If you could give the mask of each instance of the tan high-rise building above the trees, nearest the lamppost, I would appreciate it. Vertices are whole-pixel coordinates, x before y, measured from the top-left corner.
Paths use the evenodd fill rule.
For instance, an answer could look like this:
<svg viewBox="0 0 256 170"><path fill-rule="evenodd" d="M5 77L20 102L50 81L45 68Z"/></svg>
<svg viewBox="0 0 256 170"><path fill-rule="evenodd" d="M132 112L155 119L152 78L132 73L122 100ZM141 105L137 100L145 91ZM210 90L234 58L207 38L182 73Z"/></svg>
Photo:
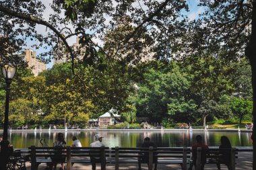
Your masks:
<svg viewBox="0 0 256 170"><path fill-rule="evenodd" d="M38 73L46 70L46 64L36 58L36 51L34 50L26 50L24 60L28 62L28 67L32 70L34 76L38 76Z"/></svg>

